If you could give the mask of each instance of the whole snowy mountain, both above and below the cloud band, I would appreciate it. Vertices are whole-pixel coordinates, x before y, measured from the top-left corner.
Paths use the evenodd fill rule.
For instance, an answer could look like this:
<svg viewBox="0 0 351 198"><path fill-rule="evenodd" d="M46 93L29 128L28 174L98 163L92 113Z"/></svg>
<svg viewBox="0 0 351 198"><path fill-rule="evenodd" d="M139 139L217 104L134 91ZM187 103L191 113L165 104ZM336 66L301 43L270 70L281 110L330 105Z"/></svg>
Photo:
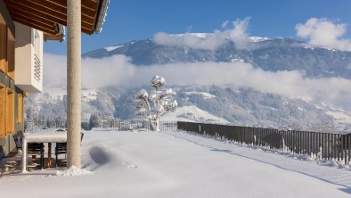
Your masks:
<svg viewBox="0 0 351 198"><path fill-rule="evenodd" d="M207 37L207 34L192 34ZM179 35L181 37L182 35ZM152 39L111 45L83 54L102 58L124 54L136 66L175 62L249 62L269 71L300 70L309 78L343 77L351 79L351 53L310 45L291 38L250 37L249 49L238 49L228 41L216 50L194 49L180 45L158 45ZM100 87L82 92L83 120L92 114L120 120L135 119L135 94L140 88ZM351 111L333 103L317 101L307 95L291 98L242 87L186 86L175 90L178 109L165 120L191 120L230 123L267 128L305 130L342 130L351 128ZM65 89L45 89L44 94L29 95L26 108L45 118L65 120ZM351 108L350 108L351 109Z"/></svg>

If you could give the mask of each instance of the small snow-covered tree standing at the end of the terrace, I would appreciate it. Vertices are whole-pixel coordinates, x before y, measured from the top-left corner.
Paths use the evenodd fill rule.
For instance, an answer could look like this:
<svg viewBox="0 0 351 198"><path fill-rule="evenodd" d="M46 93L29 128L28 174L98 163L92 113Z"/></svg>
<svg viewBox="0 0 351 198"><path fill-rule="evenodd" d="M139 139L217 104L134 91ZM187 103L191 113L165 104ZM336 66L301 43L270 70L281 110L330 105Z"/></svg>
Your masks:
<svg viewBox="0 0 351 198"><path fill-rule="evenodd" d="M171 98L173 94L171 88L160 90L160 87L166 85L165 78L155 76L151 79L150 85L155 88L153 93L149 95L145 89L142 89L136 95L139 101L136 106L137 115L149 120L152 130L159 131L160 118L167 111L175 110L178 104Z"/></svg>

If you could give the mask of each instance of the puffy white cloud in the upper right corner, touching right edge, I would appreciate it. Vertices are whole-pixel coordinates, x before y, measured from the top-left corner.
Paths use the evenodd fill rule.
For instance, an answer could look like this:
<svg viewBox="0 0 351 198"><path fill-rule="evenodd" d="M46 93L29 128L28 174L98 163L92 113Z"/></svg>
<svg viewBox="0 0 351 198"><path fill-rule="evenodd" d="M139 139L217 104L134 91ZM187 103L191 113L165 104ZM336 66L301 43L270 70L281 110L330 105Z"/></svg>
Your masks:
<svg viewBox="0 0 351 198"><path fill-rule="evenodd" d="M311 18L305 24L298 23L295 29L298 37L308 38L310 44L351 51L351 40L342 38L347 31L345 23Z"/></svg>

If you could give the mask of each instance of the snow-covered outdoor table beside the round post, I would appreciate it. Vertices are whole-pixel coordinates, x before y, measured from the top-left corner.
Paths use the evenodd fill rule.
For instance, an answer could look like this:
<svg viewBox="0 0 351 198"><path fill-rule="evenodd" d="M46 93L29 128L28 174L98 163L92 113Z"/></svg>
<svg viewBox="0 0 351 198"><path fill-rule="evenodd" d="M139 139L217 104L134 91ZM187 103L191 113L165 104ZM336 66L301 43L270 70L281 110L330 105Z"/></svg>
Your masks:
<svg viewBox="0 0 351 198"><path fill-rule="evenodd" d="M66 143L66 142L67 142L66 131L25 133L22 139L22 172L27 172L27 148L29 143L51 144L51 143ZM49 147L51 148L50 145Z"/></svg>

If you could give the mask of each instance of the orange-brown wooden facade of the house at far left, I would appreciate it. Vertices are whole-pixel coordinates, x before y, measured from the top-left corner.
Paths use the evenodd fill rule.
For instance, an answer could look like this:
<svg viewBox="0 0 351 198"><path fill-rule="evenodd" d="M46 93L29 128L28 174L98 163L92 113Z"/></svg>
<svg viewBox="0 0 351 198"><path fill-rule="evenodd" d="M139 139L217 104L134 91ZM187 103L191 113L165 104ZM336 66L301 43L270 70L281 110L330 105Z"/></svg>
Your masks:
<svg viewBox="0 0 351 198"><path fill-rule="evenodd" d="M0 158L16 152L13 134L23 131L23 91L15 86L15 28L0 2ZM21 95L21 96L20 96ZM18 100L20 98L20 101ZM19 122L20 120L20 122Z"/></svg>

